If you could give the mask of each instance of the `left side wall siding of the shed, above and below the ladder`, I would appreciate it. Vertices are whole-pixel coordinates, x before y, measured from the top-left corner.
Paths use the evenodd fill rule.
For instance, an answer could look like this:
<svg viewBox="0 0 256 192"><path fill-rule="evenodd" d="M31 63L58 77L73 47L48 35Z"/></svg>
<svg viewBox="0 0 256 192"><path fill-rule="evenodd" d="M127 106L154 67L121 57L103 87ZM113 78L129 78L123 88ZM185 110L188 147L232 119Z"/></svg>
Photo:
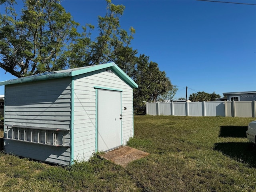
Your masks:
<svg viewBox="0 0 256 192"><path fill-rule="evenodd" d="M70 129L71 78L5 86L5 125ZM6 129L5 129L6 134ZM70 135L66 135L70 142ZM68 165L70 148L5 140L5 152Z"/></svg>

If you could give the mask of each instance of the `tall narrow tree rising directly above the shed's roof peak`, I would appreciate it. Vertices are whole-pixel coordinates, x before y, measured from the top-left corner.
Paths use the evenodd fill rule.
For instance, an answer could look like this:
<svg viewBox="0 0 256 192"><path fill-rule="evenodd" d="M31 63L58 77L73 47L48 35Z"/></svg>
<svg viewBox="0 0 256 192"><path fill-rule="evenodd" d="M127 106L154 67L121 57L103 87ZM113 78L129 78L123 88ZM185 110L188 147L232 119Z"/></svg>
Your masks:
<svg viewBox="0 0 256 192"><path fill-rule="evenodd" d="M120 28L119 17L122 16L125 7L112 4L111 0L106 0L106 2L105 17L98 16L99 36L90 45L88 65L106 63L120 55L125 55L124 52L129 51L128 46L135 33L132 27L130 27L130 35Z"/></svg>

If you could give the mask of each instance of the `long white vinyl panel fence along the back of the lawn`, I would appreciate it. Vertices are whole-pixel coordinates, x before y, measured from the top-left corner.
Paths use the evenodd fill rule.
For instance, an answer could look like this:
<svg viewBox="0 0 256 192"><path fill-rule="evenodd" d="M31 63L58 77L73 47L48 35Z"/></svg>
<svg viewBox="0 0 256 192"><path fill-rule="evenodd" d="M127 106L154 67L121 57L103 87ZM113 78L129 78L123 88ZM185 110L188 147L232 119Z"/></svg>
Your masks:
<svg viewBox="0 0 256 192"><path fill-rule="evenodd" d="M256 101L146 103L148 115L256 117Z"/></svg>

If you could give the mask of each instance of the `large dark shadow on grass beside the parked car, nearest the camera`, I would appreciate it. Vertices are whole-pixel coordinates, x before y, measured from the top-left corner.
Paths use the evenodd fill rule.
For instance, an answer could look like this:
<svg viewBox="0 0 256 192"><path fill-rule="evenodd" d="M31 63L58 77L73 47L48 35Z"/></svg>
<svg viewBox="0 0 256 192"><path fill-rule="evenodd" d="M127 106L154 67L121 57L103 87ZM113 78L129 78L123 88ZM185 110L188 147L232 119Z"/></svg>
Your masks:
<svg viewBox="0 0 256 192"><path fill-rule="evenodd" d="M238 162L247 163L250 167L256 168L256 145L253 143L216 143L214 144L214 150L220 151Z"/></svg>

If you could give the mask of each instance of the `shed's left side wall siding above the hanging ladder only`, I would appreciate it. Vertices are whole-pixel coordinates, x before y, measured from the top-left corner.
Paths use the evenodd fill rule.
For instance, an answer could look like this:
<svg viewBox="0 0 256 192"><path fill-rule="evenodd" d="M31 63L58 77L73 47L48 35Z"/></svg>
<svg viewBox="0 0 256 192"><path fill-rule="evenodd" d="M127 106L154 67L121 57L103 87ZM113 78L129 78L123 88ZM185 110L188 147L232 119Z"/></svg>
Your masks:
<svg viewBox="0 0 256 192"><path fill-rule="evenodd" d="M6 85L5 124L70 128L70 80Z"/></svg>

